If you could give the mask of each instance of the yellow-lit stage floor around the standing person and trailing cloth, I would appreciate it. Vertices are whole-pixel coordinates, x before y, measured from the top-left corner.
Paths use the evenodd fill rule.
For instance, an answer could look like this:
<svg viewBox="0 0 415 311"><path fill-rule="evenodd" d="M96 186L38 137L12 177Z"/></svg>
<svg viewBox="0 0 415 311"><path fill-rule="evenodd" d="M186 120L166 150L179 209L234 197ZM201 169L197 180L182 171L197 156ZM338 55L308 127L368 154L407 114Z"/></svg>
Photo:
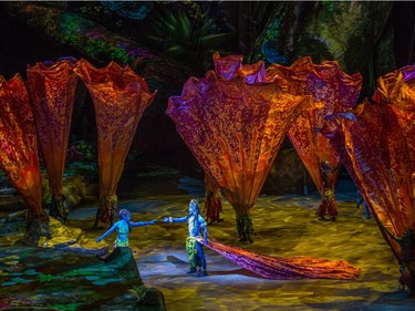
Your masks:
<svg viewBox="0 0 415 311"><path fill-rule="evenodd" d="M141 190L120 194L120 207L132 211L133 221L180 217L193 197L203 197L198 183L184 179L135 185ZM190 182L189 182L190 180ZM343 184L343 188L342 188ZM362 270L356 280L267 280L205 249L208 276L186 274L186 224L133 228L131 247L146 287L163 292L169 311L194 310L415 310L415 300L400 291L400 272L392 251L373 218L355 207L355 189L347 180L338 186L338 221L319 221L320 198L261 195L252 210L253 243L239 243L235 211L224 198L224 221L208 226L209 239L258 253L312 256L346 260ZM203 204L201 204L203 207ZM96 238L106 228L92 230L96 207L82 206L70 215L71 226ZM115 234L106 239L111 245ZM96 307L100 310L100 307Z"/></svg>

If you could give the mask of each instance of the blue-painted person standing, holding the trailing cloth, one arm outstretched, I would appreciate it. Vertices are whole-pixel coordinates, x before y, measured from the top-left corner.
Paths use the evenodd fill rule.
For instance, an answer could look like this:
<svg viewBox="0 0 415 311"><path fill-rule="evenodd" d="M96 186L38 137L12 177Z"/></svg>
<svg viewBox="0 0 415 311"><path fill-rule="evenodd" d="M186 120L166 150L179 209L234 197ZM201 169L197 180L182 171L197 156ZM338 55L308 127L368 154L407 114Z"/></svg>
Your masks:
<svg viewBox="0 0 415 311"><path fill-rule="evenodd" d="M207 245L206 221L200 215L199 203L191 199L189 203L189 214L181 218L164 217L163 222L186 222L188 224L188 237L186 240L186 250L189 257L190 270L187 273L198 273L199 277L206 277L206 259L203 243ZM200 229L204 230L204 237L200 236Z"/></svg>

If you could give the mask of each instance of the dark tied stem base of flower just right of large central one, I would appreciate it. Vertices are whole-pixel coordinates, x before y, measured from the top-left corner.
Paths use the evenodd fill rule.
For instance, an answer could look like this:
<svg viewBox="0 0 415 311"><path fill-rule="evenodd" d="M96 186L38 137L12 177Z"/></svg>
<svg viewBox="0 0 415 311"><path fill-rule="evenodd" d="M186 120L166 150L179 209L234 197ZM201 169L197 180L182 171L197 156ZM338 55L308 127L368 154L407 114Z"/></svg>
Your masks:
<svg viewBox="0 0 415 311"><path fill-rule="evenodd" d="M334 188L336 183L336 172L340 165L335 168L331 168L328 160L320 163L320 173L323 179L322 189L322 200L320 203L319 209L315 212L320 220L328 220L324 216L329 215L331 221L335 221L338 217L338 203L335 201Z"/></svg>

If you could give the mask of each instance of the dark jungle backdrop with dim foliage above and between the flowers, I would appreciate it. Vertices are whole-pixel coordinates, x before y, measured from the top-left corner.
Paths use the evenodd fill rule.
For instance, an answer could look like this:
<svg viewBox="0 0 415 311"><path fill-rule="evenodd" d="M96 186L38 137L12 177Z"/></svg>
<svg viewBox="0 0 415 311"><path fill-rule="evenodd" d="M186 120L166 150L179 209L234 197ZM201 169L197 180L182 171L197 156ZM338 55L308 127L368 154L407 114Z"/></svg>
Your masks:
<svg viewBox="0 0 415 311"><path fill-rule="evenodd" d="M414 13L413 2L398 1L0 2L0 74L25 77L29 64L62 56L98 68L129 64L158 94L139 123L127 172L151 162L201 177L165 111L189 76L212 70L212 53L266 66L305 55L338 61L345 73L363 75L362 101L378 76L414 63ZM72 120L70 143L86 142L83 156L94 157L94 108L81 83ZM278 162L284 151L292 151L289 139Z"/></svg>

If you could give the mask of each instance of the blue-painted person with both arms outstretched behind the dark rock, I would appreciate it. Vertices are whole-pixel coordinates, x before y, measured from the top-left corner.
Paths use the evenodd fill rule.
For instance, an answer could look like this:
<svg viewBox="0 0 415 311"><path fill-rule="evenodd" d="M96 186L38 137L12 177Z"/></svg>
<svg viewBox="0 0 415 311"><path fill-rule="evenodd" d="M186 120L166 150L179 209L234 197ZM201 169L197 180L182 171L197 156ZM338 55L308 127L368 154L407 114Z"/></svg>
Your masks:
<svg viewBox="0 0 415 311"><path fill-rule="evenodd" d="M111 235L114 230L116 230L117 237L114 247L128 247L128 236L132 227L154 225L157 221L157 219L153 219L151 221L133 222L131 221L131 214L127 209L120 210L118 216L120 220L116 221L104 235L95 240L97 243L101 242L105 237Z"/></svg>

